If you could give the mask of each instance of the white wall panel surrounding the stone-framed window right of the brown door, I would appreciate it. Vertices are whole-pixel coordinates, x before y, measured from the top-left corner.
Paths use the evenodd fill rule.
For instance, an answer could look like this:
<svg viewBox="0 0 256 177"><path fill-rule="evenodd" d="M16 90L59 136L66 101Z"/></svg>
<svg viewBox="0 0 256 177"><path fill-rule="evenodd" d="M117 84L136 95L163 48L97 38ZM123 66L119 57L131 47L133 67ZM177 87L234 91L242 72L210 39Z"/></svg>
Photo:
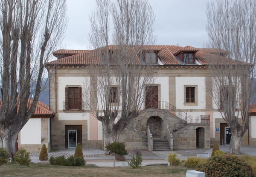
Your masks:
<svg viewBox="0 0 256 177"><path fill-rule="evenodd" d="M179 109L205 109L205 77L176 77L176 107ZM197 86L197 105L184 105L184 86Z"/></svg>

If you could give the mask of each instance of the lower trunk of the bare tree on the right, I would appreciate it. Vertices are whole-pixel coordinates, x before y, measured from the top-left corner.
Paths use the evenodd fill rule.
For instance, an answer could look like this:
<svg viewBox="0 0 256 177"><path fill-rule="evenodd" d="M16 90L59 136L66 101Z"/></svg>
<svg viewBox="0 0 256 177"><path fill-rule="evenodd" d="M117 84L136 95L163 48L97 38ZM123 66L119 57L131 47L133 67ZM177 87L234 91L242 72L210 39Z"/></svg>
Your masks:
<svg viewBox="0 0 256 177"><path fill-rule="evenodd" d="M243 136L240 132L232 131L232 136L230 140L230 154L240 154L242 137Z"/></svg>

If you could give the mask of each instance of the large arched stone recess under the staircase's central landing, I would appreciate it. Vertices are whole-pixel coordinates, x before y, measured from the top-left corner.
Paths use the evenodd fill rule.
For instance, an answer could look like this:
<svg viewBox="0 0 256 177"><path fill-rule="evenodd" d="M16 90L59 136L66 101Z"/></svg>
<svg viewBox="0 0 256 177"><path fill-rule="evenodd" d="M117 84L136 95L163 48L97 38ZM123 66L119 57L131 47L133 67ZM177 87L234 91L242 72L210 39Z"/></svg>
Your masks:
<svg viewBox="0 0 256 177"><path fill-rule="evenodd" d="M151 131L153 137L161 137L163 120L158 116L151 116L147 120L147 127Z"/></svg>

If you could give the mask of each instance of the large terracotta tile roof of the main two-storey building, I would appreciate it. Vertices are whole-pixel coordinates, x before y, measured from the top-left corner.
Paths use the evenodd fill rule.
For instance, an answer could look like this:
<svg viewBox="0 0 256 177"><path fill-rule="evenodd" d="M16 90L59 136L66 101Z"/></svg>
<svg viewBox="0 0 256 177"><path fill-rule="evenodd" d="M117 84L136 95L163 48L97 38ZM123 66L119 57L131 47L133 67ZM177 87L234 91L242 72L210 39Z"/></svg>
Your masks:
<svg viewBox="0 0 256 177"><path fill-rule="evenodd" d="M128 52L134 53L134 47L128 46ZM116 45L108 46L109 51L118 49ZM102 50L106 50L106 47L93 50L58 50L53 52L54 54L73 54L71 56L63 57L58 60L54 60L47 63L47 66L86 66L90 64L100 64L102 58ZM194 51L196 60L202 65L211 63L225 64L227 58L218 54L225 53L226 51L220 49L197 49L192 46L171 46L171 45L145 45L143 50L157 51L163 65L181 65L177 60L176 55L180 52ZM140 49L137 49L137 54ZM226 52L227 53L227 52ZM225 54L226 54L225 53ZM137 63L140 63L140 58L137 56ZM235 61L235 60L234 60Z"/></svg>

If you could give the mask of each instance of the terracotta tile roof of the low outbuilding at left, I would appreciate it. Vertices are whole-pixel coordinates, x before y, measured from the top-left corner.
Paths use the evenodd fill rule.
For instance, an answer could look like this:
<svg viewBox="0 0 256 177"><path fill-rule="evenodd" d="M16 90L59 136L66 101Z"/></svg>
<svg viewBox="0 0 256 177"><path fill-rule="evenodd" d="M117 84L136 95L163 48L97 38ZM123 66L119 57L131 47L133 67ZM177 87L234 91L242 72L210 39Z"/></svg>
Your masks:
<svg viewBox="0 0 256 177"><path fill-rule="evenodd" d="M28 101L28 106L30 106L32 104L31 99L29 99ZM0 107L2 106L2 101L0 100ZM18 106L19 109L19 106ZM47 117L47 118L51 118L54 117L54 113L52 111L49 110L49 106L45 105L44 103L38 101L36 108L35 108L35 113L31 116L31 117Z"/></svg>

